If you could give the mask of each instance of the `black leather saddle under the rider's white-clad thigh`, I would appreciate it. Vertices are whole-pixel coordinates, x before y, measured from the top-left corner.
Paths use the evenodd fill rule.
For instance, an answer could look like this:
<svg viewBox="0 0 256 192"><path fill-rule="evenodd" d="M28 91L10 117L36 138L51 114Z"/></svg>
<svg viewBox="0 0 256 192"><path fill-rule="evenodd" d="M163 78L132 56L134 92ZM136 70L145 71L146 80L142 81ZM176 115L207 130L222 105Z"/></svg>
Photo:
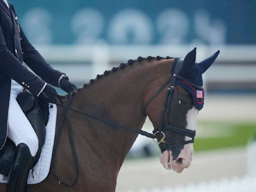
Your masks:
<svg viewBox="0 0 256 192"><path fill-rule="evenodd" d="M41 149L45 141L45 125L49 118L48 103L33 96L29 91L24 90L17 96L17 102L26 115L38 137L38 151L34 157L34 166L41 154ZM3 148L0 150L0 174L8 176L9 170L15 155L16 146L7 138Z"/></svg>

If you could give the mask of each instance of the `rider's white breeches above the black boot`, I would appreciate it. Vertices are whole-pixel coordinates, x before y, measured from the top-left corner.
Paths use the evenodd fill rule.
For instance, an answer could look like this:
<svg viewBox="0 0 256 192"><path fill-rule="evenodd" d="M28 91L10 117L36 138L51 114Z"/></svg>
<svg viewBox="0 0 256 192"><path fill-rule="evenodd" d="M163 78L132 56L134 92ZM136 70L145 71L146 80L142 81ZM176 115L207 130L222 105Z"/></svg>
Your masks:
<svg viewBox="0 0 256 192"><path fill-rule="evenodd" d="M25 143L32 156L35 156L38 150L38 139L33 127L27 120L21 110L16 98L23 91L23 87L15 80L11 80L10 100L8 109L8 133L7 137L17 146L19 143Z"/></svg>

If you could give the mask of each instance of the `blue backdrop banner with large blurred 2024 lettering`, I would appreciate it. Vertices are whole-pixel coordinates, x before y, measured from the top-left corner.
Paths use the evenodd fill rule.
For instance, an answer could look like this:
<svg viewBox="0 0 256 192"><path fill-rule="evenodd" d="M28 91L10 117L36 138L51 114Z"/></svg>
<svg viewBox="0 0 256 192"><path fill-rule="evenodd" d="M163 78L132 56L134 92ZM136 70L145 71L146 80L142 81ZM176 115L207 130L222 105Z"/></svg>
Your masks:
<svg viewBox="0 0 256 192"><path fill-rule="evenodd" d="M9 0L37 44L255 44L255 0Z"/></svg>

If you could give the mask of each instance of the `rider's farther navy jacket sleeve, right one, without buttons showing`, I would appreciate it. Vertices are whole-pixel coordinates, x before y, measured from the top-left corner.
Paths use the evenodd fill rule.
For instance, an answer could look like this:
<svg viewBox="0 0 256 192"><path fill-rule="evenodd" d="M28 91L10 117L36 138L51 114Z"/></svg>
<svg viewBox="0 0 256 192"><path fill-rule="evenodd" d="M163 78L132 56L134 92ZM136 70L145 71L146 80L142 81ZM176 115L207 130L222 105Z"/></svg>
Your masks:
<svg viewBox="0 0 256 192"><path fill-rule="evenodd" d="M23 51L24 62L43 80L59 87L59 80L65 74L54 70L41 54L31 45L20 27L21 49Z"/></svg>

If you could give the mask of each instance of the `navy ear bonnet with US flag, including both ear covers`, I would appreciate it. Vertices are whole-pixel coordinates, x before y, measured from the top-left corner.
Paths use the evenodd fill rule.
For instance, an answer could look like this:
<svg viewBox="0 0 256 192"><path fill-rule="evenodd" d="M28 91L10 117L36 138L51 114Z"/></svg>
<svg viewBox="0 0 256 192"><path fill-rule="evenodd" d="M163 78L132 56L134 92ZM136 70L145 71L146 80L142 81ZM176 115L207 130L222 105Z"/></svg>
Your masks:
<svg viewBox="0 0 256 192"><path fill-rule="evenodd" d="M196 48L187 53L184 59L175 58L171 67L171 74L175 73L175 85L179 85L188 91L193 99L193 105L200 110L203 106L202 73L207 70L217 58L219 50L197 63L195 62Z"/></svg>

